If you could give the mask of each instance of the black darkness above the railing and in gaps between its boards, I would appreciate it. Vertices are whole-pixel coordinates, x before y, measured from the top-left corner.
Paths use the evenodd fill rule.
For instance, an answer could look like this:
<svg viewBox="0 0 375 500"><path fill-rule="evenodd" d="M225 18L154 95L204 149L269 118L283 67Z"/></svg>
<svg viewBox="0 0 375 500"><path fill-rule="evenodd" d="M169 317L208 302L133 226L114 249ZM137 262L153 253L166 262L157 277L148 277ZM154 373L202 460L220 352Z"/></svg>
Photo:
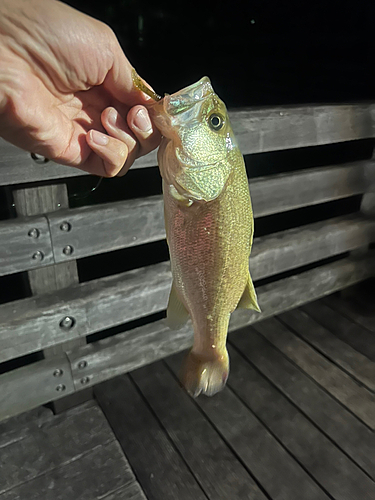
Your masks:
<svg viewBox="0 0 375 500"><path fill-rule="evenodd" d="M132 65L160 94L207 75L229 108L375 102L374 0L66 3L109 24ZM369 158L374 143L366 139L247 155L250 186L252 178L262 175ZM58 182L67 183L72 208L161 193L157 167L103 179L93 192L95 177ZM0 219L16 216L10 208L12 189L0 188ZM360 201L354 196L257 218L255 236L355 212ZM165 241L95 255L77 262L79 279L167 259ZM26 273L0 278L0 303L30 294Z"/></svg>

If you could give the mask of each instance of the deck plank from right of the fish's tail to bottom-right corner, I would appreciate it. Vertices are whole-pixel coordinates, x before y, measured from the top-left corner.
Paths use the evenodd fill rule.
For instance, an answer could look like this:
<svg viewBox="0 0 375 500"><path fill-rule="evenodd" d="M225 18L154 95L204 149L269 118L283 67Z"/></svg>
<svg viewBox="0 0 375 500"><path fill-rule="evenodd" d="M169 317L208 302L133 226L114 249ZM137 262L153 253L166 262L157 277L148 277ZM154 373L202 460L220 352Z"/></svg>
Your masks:
<svg viewBox="0 0 375 500"><path fill-rule="evenodd" d="M263 370L265 356L253 338L248 329L236 335L234 342L245 356L254 349L252 359ZM375 483L365 472L259 372L244 363L242 356L232 349L230 356L229 386L329 495L337 500L374 498ZM282 377L279 367L278 376Z"/></svg>

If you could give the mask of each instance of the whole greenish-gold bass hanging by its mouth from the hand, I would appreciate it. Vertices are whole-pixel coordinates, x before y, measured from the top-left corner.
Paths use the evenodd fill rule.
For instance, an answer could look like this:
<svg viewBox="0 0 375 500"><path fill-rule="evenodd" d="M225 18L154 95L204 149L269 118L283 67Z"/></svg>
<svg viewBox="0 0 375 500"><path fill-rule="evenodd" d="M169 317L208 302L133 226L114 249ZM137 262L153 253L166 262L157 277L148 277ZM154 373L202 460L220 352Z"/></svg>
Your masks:
<svg viewBox="0 0 375 500"><path fill-rule="evenodd" d="M226 106L208 77L154 99L148 111L162 134L157 156L173 277L167 322L178 329L191 318L194 340L181 381L193 397L212 396L229 375L231 313L260 312L249 272L249 183Z"/></svg>

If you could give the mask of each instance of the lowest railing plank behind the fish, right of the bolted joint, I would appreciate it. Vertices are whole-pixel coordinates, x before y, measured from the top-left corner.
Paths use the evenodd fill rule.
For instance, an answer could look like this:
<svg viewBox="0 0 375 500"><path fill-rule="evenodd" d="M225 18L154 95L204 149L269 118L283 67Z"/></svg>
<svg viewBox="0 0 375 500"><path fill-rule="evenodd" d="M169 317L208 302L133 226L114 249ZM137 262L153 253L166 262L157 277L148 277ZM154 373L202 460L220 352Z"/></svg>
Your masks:
<svg viewBox="0 0 375 500"><path fill-rule="evenodd" d="M263 312L235 311L230 331L361 281L373 272L372 265L370 260L353 261L348 258L263 285L257 290ZM157 321L83 346L68 355L78 388L83 377L88 377L87 385L93 385L173 354L191 343L190 322L180 330L172 331L164 321ZM85 367L79 368L82 364Z"/></svg>

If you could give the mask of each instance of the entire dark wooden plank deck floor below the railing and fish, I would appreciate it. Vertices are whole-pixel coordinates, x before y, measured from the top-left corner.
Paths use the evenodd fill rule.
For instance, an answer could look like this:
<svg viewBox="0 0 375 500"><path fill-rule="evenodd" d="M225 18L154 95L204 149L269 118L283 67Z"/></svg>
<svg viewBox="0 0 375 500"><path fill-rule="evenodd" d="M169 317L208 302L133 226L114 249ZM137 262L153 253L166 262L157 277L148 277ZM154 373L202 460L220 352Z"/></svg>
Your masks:
<svg viewBox="0 0 375 500"><path fill-rule="evenodd" d="M180 353L96 386L97 403L0 424L0 500L374 500L375 307L362 299L230 334L213 398L180 388Z"/></svg>

